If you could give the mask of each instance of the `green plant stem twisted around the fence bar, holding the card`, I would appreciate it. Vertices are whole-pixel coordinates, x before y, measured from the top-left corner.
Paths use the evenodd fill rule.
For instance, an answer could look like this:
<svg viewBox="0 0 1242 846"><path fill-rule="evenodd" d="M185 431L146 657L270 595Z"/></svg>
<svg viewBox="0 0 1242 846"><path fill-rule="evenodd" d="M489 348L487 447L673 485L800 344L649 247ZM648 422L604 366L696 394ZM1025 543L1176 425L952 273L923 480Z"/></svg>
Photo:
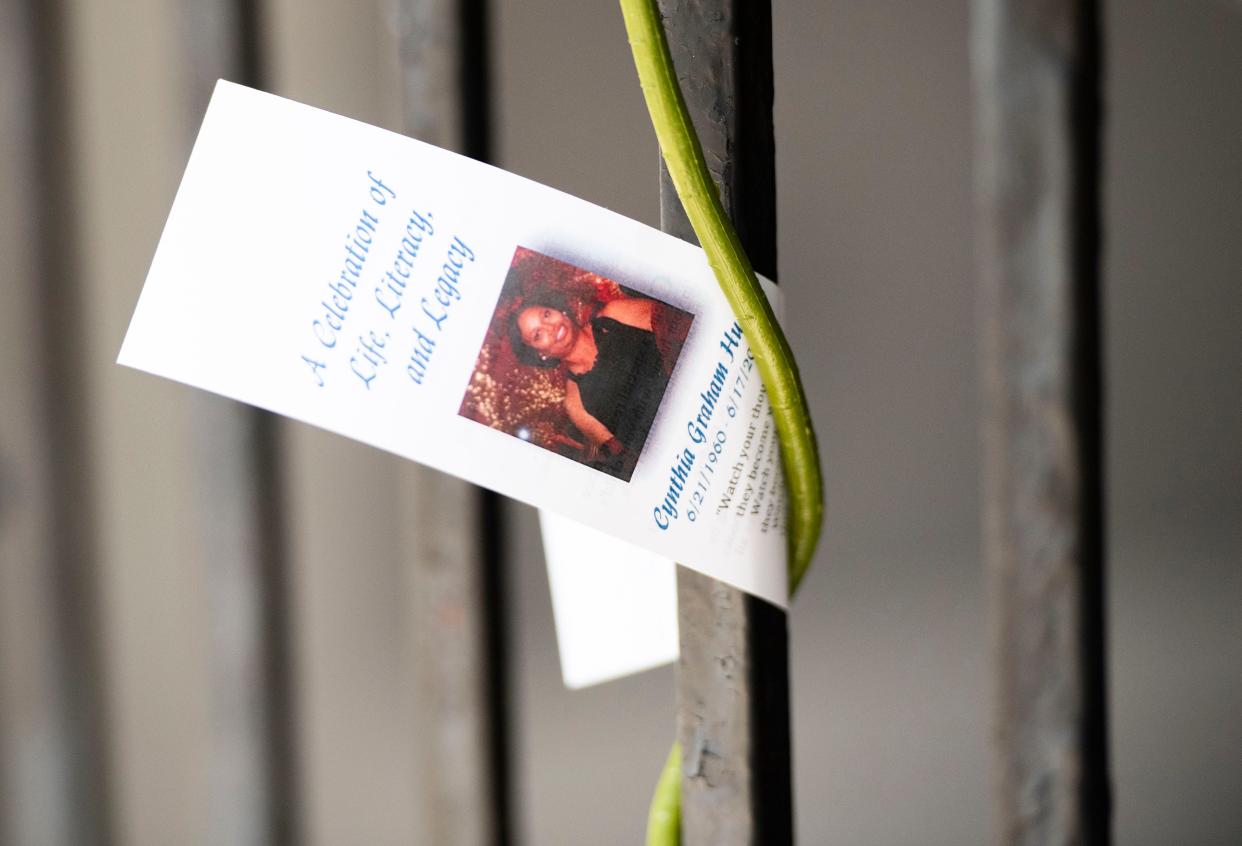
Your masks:
<svg viewBox="0 0 1242 846"><path fill-rule="evenodd" d="M820 453L806 395L785 333L759 287L738 234L691 123L668 52L656 0L621 0L630 47L660 149L708 262L754 350L780 436L789 486L789 590L792 595L810 566L823 522ZM647 819L647 846L681 842L681 750L673 744Z"/></svg>

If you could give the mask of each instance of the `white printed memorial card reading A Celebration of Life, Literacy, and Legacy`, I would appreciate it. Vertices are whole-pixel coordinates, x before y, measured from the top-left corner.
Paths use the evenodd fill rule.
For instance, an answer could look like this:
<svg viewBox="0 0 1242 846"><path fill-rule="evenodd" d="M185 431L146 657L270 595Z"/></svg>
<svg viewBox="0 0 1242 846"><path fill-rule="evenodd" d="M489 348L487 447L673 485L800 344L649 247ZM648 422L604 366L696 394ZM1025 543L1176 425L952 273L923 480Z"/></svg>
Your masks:
<svg viewBox="0 0 1242 846"><path fill-rule="evenodd" d="M786 604L771 415L703 252L513 174L221 82L119 360Z"/></svg>

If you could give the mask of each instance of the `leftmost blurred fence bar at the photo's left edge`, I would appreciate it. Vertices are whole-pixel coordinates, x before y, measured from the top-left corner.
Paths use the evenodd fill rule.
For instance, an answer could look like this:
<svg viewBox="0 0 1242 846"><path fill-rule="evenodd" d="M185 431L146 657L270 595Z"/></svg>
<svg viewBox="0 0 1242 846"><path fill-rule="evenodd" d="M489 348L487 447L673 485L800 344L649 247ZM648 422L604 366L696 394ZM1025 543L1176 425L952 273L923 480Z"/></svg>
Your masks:
<svg viewBox="0 0 1242 846"><path fill-rule="evenodd" d="M0 844L111 842L60 2L0 2Z"/></svg>

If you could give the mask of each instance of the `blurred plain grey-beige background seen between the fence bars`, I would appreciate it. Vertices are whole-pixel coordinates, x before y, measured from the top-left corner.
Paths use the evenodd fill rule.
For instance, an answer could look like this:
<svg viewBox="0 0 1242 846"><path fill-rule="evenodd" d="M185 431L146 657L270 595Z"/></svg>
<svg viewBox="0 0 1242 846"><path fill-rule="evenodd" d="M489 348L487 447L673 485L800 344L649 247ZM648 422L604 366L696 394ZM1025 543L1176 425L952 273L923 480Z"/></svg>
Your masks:
<svg viewBox="0 0 1242 846"><path fill-rule="evenodd" d="M63 5L58 143L75 220L63 248L83 317L62 371L82 398L81 478L98 503L83 532L98 550L111 816L123 844L236 842L212 807L215 624L206 562L186 545L204 530L190 517L197 406L189 389L112 364L202 107L183 93L179 39L193 21L170 0ZM493 11L498 164L656 224L657 150L615 5L496 0ZM268 0L262 20L272 91L400 127L385 2ZM828 491L825 542L791 616L800 841L984 844L968 4L786 0L774 25L780 281ZM1242 7L1113 0L1104 32L1117 842L1233 845ZM0 246L17 256L32 224L12 202L2 214ZM37 364L19 338L0 338L10 370ZM304 839L426 842L415 799L420 658L388 496L400 468L302 425L278 434ZM327 530L325 514L349 534ZM563 689L534 514L513 507L509 523L518 837L640 842L672 738L672 671ZM0 595L0 614L22 612L15 596ZM0 681L6 691L14 702ZM6 742L37 747L12 732Z"/></svg>

